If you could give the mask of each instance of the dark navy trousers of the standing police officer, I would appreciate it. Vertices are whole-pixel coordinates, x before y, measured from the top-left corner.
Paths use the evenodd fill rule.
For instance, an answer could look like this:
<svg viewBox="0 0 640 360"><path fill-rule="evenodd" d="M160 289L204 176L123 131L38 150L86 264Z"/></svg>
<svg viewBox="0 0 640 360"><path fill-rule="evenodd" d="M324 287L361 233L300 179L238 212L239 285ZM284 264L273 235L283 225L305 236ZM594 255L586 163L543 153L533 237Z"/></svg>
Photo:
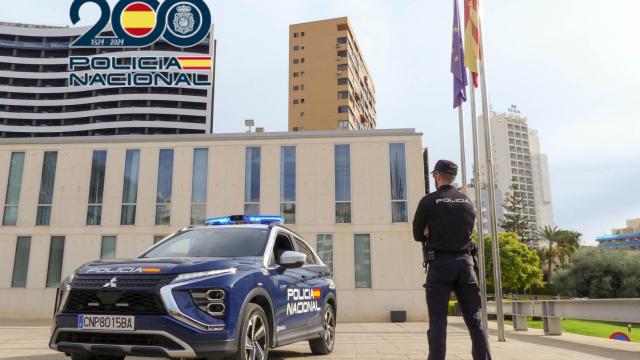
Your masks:
<svg viewBox="0 0 640 360"><path fill-rule="evenodd" d="M447 311L451 290L456 294L469 329L474 360L489 360L489 344L482 328L481 300L473 259L467 254L438 253L427 271L429 360L443 360L447 350Z"/></svg>

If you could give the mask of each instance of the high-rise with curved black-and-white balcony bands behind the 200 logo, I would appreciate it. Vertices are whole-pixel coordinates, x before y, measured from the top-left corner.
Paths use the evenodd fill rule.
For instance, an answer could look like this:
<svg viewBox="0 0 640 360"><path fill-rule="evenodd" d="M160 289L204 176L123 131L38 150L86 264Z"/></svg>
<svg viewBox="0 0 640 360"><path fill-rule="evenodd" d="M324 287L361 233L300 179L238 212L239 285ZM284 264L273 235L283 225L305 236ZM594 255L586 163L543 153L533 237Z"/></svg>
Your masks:
<svg viewBox="0 0 640 360"><path fill-rule="evenodd" d="M126 63L131 56L213 55L213 31L187 49L162 40L141 49L71 48L86 30L0 23L0 138L212 131L213 86L69 86L68 63L70 56ZM213 82L213 73L205 74Z"/></svg>

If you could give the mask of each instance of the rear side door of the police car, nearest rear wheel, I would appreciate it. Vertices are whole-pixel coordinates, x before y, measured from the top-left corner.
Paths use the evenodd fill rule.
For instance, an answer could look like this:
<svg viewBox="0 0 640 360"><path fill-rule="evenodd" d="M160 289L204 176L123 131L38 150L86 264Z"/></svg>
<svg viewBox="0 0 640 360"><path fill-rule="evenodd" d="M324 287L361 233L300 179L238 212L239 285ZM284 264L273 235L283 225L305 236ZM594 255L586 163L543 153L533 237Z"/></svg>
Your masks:
<svg viewBox="0 0 640 360"><path fill-rule="evenodd" d="M313 251L307 244L297 237L294 237L296 250L307 255L307 259L300 268L302 276L305 278L305 285L308 289L306 294L306 312L303 314L303 326L322 325L322 306L324 297L329 289L329 268L322 265L316 258Z"/></svg>

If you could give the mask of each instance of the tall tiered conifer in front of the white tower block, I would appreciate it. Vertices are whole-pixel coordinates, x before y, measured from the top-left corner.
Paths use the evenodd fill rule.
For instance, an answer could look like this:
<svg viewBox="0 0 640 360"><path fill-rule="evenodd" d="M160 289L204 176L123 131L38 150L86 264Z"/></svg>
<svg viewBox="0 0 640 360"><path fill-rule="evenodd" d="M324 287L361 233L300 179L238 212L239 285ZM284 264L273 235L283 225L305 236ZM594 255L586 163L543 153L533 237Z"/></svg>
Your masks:
<svg viewBox="0 0 640 360"><path fill-rule="evenodd" d="M529 213L526 212L529 205L527 195L516 184L512 184L509 190L502 204L504 219L500 226L506 232L515 233L520 241L532 247L534 239Z"/></svg>

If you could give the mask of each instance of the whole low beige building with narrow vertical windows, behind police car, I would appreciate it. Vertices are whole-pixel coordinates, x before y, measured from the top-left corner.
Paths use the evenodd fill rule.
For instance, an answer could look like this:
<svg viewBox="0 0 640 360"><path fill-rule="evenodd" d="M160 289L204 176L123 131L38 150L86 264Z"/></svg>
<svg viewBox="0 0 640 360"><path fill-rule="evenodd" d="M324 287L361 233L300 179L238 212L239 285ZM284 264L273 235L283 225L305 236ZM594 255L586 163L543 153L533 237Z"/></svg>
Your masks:
<svg viewBox="0 0 640 360"><path fill-rule="evenodd" d="M0 142L0 318L51 316L55 287L206 217L278 214L334 271L341 321L424 321L413 129L12 138Z"/></svg>

